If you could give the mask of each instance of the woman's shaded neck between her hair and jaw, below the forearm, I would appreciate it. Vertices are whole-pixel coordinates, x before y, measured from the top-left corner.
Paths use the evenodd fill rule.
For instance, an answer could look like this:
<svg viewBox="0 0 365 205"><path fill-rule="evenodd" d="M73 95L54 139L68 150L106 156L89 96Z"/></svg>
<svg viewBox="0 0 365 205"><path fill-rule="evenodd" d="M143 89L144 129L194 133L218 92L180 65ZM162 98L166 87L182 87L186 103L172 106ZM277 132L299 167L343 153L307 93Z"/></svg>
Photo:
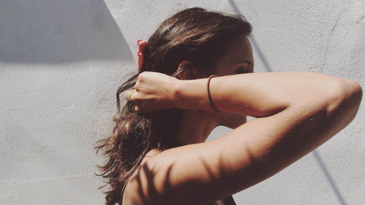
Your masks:
<svg viewBox="0 0 365 205"><path fill-rule="evenodd" d="M209 116L203 110L184 110L176 136L178 142L183 146L205 142L213 129L219 126L218 121Z"/></svg>

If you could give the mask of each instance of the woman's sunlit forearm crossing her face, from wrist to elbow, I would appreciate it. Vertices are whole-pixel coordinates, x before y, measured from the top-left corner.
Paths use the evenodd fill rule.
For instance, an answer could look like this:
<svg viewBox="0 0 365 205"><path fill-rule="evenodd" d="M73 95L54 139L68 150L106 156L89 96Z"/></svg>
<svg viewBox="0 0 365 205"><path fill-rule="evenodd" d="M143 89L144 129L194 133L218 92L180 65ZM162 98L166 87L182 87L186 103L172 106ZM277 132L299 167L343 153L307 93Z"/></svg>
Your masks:
<svg viewBox="0 0 365 205"><path fill-rule="evenodd" d="M180 81L174 104L180 109L212 110L207 97L208 78ZM210 94L215 109L264 117L292 104L326 104L337 97L342 78L309 72L248 73L215 77Z"/></svg>

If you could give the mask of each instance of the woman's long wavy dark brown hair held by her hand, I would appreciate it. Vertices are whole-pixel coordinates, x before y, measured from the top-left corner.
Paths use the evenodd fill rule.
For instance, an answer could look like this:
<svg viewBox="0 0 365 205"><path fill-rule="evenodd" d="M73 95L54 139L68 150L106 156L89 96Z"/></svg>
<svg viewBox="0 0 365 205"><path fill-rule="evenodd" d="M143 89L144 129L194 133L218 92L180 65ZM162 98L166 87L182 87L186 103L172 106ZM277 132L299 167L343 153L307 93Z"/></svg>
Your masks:
<svg viewBox="0 0 365 205"><path fill-rule="evenodd" d="M97 165L101 174L96 174L109 179L104 186L109 184L111 188L103 192L106 194L106 205L120 202L123 185L148 151L177 146L175 136L183 113L177 108L136 113L130 101L126 101L120 109L119 95L133 89L138 75L143 71L178 78L180 71L193 66L201 72L212 74L215 60L226 53L228 45L239 36L250 35L251 30L251 24L242 15L207 11L200 7L177 12L158 26L143 52L142 69L116 92L118 113L113 117L115 127L111 135L96 142L96 154L102 150L107 158L104 165ZM177 70L184 60L192 64L185 64Z"/></svg>

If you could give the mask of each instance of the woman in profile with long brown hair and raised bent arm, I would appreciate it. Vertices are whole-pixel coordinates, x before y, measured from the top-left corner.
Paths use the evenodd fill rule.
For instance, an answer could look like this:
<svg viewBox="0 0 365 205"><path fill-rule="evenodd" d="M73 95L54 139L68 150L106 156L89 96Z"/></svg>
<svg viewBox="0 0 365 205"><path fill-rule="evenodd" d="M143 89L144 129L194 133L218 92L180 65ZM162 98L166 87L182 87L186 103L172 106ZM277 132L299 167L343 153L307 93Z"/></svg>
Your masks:
<svg viewBox="0 0 365 205"><path fill-rule="evenodd" d="M107 205L235 204L232 194L353 120L362 97L357 82L254 73L250 33L243 16L196 7L162 22L148 43L138 41L138 73L118 89L115 127L96 146L108 158L99 166L111 186ZM257 119L247 123L247 116ZM220 125L234 130L205 142Z"/></svg>

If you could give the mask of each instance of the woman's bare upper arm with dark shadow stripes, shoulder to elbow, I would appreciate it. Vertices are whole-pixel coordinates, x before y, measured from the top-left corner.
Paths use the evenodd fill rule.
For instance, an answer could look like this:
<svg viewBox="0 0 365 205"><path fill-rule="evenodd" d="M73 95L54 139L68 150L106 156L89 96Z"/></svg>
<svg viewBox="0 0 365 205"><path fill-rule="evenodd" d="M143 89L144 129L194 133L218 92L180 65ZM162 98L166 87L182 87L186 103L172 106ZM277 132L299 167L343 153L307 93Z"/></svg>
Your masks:
<svg viewBox="0 0 365 205"><path fill-rule="evenodd" d="M337 134L346 115L327 116L327 102L301 106L149 158L131 178L135 204L205 205L278 173Z"/></svg>

